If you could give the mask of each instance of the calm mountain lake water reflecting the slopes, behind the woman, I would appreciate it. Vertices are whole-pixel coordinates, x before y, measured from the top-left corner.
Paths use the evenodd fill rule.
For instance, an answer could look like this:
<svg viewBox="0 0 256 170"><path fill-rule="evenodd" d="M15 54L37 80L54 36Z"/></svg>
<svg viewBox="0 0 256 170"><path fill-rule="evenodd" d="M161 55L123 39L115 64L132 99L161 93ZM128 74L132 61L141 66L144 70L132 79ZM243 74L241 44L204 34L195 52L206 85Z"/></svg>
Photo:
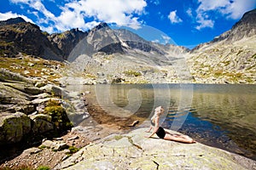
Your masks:
<svg viewBox="0 0 256 170"><path fill-rule="evenodd" d="M148 119L155 106L163 105L161 126L256 160L255 85L117 84L83 89L113 115L125 109L128 113L123 114L130 111Z"/></svg>

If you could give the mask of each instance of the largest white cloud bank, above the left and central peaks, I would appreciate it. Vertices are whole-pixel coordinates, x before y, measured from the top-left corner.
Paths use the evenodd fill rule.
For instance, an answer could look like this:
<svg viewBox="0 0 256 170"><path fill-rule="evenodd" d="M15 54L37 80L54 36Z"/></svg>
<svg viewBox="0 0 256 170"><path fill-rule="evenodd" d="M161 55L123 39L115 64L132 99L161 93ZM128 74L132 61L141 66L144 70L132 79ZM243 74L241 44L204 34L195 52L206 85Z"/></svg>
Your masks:
<svg viewBox="0 0 256 170"><path fill-rule="evenodd" d="M61 14L55 16L45 8L41 0L10 1L12 3L25 3L30 8L36 9L45 17L44 20L38 19L39 24L48 24L49 21L52 21L58 31L71 28L87 30L100 21L138 28L141 23L135 15L143 14L144 8L147 6L145 0L112 0L111 3L102 0L65 1L67 3L61 7ZM96 21L85 23L84 19L86 18L94 18ZM41 27L47 29L44 26Z"/></svg>

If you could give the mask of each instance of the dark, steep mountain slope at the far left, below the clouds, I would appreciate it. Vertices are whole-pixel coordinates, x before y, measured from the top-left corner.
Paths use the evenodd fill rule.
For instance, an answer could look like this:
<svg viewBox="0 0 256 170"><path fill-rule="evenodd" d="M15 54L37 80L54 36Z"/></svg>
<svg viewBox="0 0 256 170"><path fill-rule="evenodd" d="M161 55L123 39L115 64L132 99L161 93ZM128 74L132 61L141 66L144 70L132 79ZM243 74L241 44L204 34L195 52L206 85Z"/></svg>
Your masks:
<svg viewBox="0 0 256 170"><path fill-rule="evenodd" d="M54 48L39 27L21 18L0 23L0 54L12 57L30 54L44 59L63 60L61 51Z"/></svg>

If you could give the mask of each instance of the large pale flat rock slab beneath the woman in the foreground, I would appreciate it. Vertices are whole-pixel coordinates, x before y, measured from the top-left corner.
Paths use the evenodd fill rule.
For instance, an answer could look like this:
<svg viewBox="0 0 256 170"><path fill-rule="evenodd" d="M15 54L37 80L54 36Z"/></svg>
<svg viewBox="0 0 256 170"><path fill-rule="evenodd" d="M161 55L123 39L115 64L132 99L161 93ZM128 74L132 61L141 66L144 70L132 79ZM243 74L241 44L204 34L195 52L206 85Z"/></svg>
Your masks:
<svg viewBox="0 0 256 170"><path fill-rule="evenodd" d="M89 144L55 169L255 169L256 162L205 144L145 139L146 128ZM173 132L172 132L173 133Z"/></svg>

